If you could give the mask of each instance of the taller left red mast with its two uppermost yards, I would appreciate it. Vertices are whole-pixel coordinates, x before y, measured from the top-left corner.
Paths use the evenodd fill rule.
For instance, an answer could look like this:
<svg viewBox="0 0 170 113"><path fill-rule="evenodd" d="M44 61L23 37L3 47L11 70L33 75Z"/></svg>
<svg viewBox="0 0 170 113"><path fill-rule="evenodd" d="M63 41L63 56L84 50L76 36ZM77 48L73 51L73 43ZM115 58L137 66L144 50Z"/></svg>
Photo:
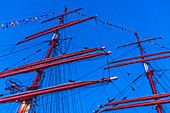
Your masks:
<svg viewBox="0 0 170 113"><path fill-rule="evenodd" d="M58 43L58 38L59 38L59 35L58 35L58 33L57 33L58 30L63 29L63 28L68 27L68 26L72 26L72 25L77 24L77 23L84 22L84 21L86 21L86 20L89 20L89 19L92 19L92 18L95 18L95 17L96 17L96 16L94 16L94 17L88 17L88 18L81 19L81 20L77 20L77 21L73 21L73 22L70 22L70 23L61 24L62 21L63 21L64 15L69 14L69 13L72 13L72 12L75 12L75 11L78 11L78 10L81 10L81 9L82 9L82 8L77 9L77 10L73 10L73 11L70 11L70 12L66 13L67 7L65 7L64 14L61 14L61 15L59 15L59 16L57 16L57 17L54 17L54 18L61 17L58 26L49 28L49 29L47 29L47 30L44 30L44 31L41 31L41 32L39 32L39 33L33 34L33 35L29 36L29 37L26 37L25 40L17 43L17 45L20 44L20 43L23 43L23 42L32 40L32 39L34 39L34 38L37 38L37 37L39 37L39 36L43 36L43 35L45 35L45 34L54 32L54 35L53 35L52 40L51 40L51 42L50 42L51 47L50 47L50 49L49 49L49 51L48 51L45 59L49 58L50 55L51 55L51 53L52 53L53 48L56 47L56 43ZM52 19L54 19L54 18L52 18ZM52 19L50 19L50 20L52 20ZM47 21L50 21L50 20L47 20ZM46 22L46 21L45 21L45 22ZM99 54L98 54L98 55L99 55ZM100 54L100 55L101 55L101 54ZM95 55L92 55L92 57L93 57L93 56L95 56ZM96 56L97 56L97 55L96 55ZM83 58L84 58L84 57L83 57ZM75 60L76 60L76 59L75 59ZM48 65L48 64L47 64L47 65ZM35 67L35 68L36 68L36 67ZM38 87L39 87L38 84L39 84L39 81L40 81L40 79L41 79L41 75L42 75L42 73L43 73L43 71L44 71L44 68L42 67L42 68L37 68L37 69L38 69L38 74L37 74L36 78L34 79L32 85L27 89L27 91L29 91L30 88L31 88L31 90L36 90L36 89L38 89ZM23 69L23 70L24 70L24 69ZM26 69L26 70L27 70L27 69ZM22 71L22 70L21 70L21 71ZM15 72L14 72L14 73L15 73ZM33 98L33 97L32 97L32 98ZM29 100L32 100L32 99L29 98ZM26 105L28 105L27 100L26 100L26 101L23 101L22 105L20 106L20 109L18 110L18 113L24 112L24 111L27 109ZM30 105L28 105L28 107L30 107Z"/></svg>

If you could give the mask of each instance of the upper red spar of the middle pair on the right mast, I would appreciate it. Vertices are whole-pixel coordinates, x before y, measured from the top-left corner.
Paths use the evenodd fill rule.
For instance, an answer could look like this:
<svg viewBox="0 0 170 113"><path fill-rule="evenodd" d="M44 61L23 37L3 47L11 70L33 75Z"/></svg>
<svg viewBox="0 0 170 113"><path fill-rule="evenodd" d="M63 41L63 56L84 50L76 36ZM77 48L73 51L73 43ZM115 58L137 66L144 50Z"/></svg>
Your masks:
<svg viewBox="0 0 170 113"><path fill-rule="evenodd" d="M117 60L117 61L114 61L114 62L110 62L108 64L127 61L127 60L133 60L133 59L137 59L137 58L149 57L149 56L154 56L154 55L160 55L160 54L165 54L165 53L170 53L170 51L165 51L165 52L160 52L160 53L153 53L153 54L148 54L148 55L143 55L143 56L137 56L137 57L127 58L127 59Z"/></svg>

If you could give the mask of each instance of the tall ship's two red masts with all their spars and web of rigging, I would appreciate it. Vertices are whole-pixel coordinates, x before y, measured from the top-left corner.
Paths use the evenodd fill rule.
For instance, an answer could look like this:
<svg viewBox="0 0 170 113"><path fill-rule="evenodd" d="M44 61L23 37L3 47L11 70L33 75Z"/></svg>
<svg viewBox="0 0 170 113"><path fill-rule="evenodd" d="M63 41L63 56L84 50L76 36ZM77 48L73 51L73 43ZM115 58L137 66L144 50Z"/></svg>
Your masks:
<svg viewBox="0 0 170 113"><path fill-rule="evenodd" d="M40 21L42 29L16 42L0 56L10 62L0 72L6 85L2 86L0 103L7 110L2 112L169 112L169 78L165 75L169 69L161 68L157 61L168 62L170 51L163 51L166 47L157 52L144 48L162 37L143 39L135 31L81 10L68 10L65 6L61 14L22 20L22 24ZM4 25L2 28L6 29ZM80 28L84 30L81 35ZM114 34L107 37L112 28L126 31L133 39L117 39ZM89 36L90 40L86 38ZM167 78L163 83L162 76Z"/></svg>

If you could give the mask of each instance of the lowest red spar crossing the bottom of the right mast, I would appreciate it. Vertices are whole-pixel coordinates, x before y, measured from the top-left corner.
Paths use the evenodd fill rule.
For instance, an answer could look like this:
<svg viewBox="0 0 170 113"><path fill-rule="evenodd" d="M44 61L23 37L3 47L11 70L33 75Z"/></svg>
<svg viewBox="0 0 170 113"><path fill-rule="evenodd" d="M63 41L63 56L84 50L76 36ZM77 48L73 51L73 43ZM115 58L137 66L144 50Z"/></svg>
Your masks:
<svg viewBox="0 0 170 113"><path fill-rule="evenodd" d="M103 109L103 110L96 110L94 112L100 113L100 112L103 112L103 111L111 111L111 110L117 110L117 109L125 109L125 108L131 108L131 107L139 107L139 106L150 106L150 105L166 104L166 103L170 103L170 99L157 100L157 101L151 101L151 102L143 102L143 103L137 103L137 104L130 104L130 105L124 105L124 106L119 106L119 107L112 107L112 108L107 108L107 109Z"/></svg>

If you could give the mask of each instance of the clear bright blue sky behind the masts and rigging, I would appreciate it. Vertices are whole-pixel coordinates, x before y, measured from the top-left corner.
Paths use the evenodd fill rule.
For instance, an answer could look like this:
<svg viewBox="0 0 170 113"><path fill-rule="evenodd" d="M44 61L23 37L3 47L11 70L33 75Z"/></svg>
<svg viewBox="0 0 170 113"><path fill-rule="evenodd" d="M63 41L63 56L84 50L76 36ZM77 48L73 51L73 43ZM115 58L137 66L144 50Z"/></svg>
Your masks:
<svg viewBox="0 0 170 113"><path fill-rule="evenodd" d="M169 0L142 0L142 1L139 1L139 0L104 0L104 1L103 0L48 0L48 1L46 0L12 1L11 0L11 1L2 1L1 0L0 4L1 4L0 24L17 21L17 20L25 19L29 17L36 17L41 14L48 14L52 12L55 12L56 15L61 14L64 10L64 5L68 7L69 11L82 7L84 8L82 11L80 11L82 14L86 14L89 16L98 15L99 20L102 20L104 22L109 22L113 25L117 25L125 29L136 31L138 32L139 36L142 37L141 40L149 39L149 38L156 38L160 36L163 37L163 39L153 41L154 43L159 44L159 45L151 44L149 42L144 43L142 46L144 47L145 54L156 53L156 52L167 50L165 48L161 48L161 46L170 48L170 38L169 38L170 37L170 34L169 34L170 1ZM76 20L77 17L78 19L83 18L77 14L72 14L70 16L69 15L67 16L67 20L68 21ZM54 24L56 23L57 21L55 21ZM23 40L25 37L31 35L32 33L36 33L38 31L41 31L42 29L54 26L53 23L45 24L44 26L40 26L39 24L40 23L37 22L37 23L30 23L26 25L20 25L16 27L13 26L12 28L8 28L8 29L0 28L0 37L1 37L0 45L15 44L18 41ZM121 29L103 25L100 22L97 22L96 24L96 22L92 20L87 23L81 24L79 27L73 26L66 30L68 30L69 33L71 34L67 36L72 36L74 40L71 46L71 49L70 49L72 52L82 49L83 46L88 46L88 47L106 46L107 48L106 50L112 51L111 57L114 60L140 55L138 48L134 48L135 46L130 46L129 48L122 48L119 50L116 49L117 46L127 44L127 43L132 43L136 41L136 38L132 33L122 31ZM51 36L52 36L51 34L47 36L43 36L42 40L45 40L44 39L45 37L48 38ZM39 39L37 39L36 41L39 41ZM46 40L50 40L50 38ZM44 45L42 46L45 47ZM10 52L13 47L14 46L12 46L11 48L7 48L5 46L4 47L5 50L4 48L1 47L0 55ZM24 47L24 45L21 47ZM76 47L78 49L75 49ZM17 57L15 55L12 57L13 57L12 60L7 60L7 59L10 59L11 57L5 57L5 58L3 57L0 59L0 70L1 71L7 68L8 64L13 65L17 63L15 62L15 59L17 59ZM24 56L20 56L20 57L23 58ZM112 61L113 59L109 58L109 61ZM101 59L99 58L99 60L101 60L99 61L101 65L103 65L102 60L104 60L106 63L106 58L102 57ZM28 63L28 62L29 61L25 63ZM94 60L94 62L97 63L97 60ZM79 70L80 74L78 76L85 75L86 73L91 72L95 69L94 67L90 69L88 67L88 66L96 66L93 63L87 64L86 61L83 61L83 63L84 63L84 67L80 67L80 70ZM151 62L150 64L153 66L154 69L156 68L157 70L169 69L169 66L170 66L169 58L165 60L158 60L158 62L154 61L154 62ZM138 66L141 68L139 69ZM136 77L138 77L140 74L144 72L143 67L142 67L143 65L139 64L138 66L135 66L135 65L125 66L123 68L110 70L110 73L112 76L119 77L119 80L117 80L115 84L119 88L120 91L123 90ZM85 68L89 70L88 71L83 70ZM131 74L130 77L127 75L127 73ZM93 73L91 75L94 75L94 74L95 76L91 76L91 77L88 76L87 78L85 77L82 80L95 79L95 78L99 79L102 77L108 77L108 73L103 70ZM96 74L99 74L99 75L96 75ZM106 74L107 76L104 76L103 74ZM164 76L164 74L166 76ZM160 79L158 80L162 82L162 85L169 92L170 89L169 87L167 87L166 84L169 84L168 77L170 73L169 71L166 71L164 74L162 75L162 72L158 73L158 75L162 75ZM158 77L158 75L156 77ZM21 78L21 80L25 78ZM145 81L146 84L149 84L146 76L143 76L142 79ZM5 80L6 79L0 80L3 86L0 88L2 90L1 92L3 92L5 88L5 85L4 85ZM140 80L141 84L142 82L144 82L143 80ZM127 94L125 94L125 96L128 95L128 99L139 97L139 96L152 95L149 85L142 84L142 86L140 87L140 83L134 86L136 89L138 88L140 89L140 90L136 90L136 93L134 93L133 91L129 91L127 92ZM163 88L161 88L160 84L157 83L156 86L160 87L157 89L159 93L166 92L163 90ZM103 91L100 89L98 92L94 93L93 96L91 96L91 98L87 97L86 99L93 100L93 101L96 101L96 98L98 98L98 101L91 102L91 103L83 102L83 107L87 106L86 104L89 104L90 106L90 107L84 107L86 111L83 111L83 113L88 113L88 112L90 113L93 110L96 110L98 104L107 102L107 97L112 99L112 97L115 97L119 93L117 88L113 87L113 85L109 87L112 87L112 88L110 89L106 88L107 93L101 94L102 97L100 98L98 97L98 95L101 93L101 91ZM130 95L131 92L133 92L132 95ZM97 97L94 95L97 95ZM124 96L122 96L120 100L123 97ZM94 105L92 105L93 103ZM8 106L9 104L0 105L0 109L1 109L0 113L5 113L6 109L8 109ZM14 105L11 105L11 106L14 106ZM170 108L168 104L163 107L165 108L165 112L167 112L166 110ZM143 113L143 110L145 112L153 110L153 113L156 113L156 110L154 108L155 108L154 106L153 108L148 107L147 109L141 107L141 108L137 108L136 110L138 111L138 113ZM72 113L72 111L70 112ZM136 113L134 109L125 109L125 110L116 111L116 113L125 113L125 112Z"/></svg>

